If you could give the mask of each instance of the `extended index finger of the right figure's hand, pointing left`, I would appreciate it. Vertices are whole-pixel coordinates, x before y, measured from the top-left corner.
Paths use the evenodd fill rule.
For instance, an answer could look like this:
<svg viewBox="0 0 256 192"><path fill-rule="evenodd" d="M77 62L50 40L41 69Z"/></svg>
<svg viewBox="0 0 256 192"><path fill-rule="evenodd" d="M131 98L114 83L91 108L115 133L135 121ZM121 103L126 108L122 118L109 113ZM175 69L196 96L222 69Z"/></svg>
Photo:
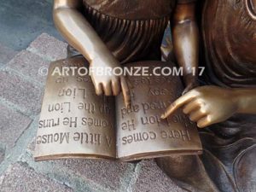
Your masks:
<svg viewBox="0 0 256 192"><path fill-rule="evenodd" d="M172 104L166 108L166 112L161 115L161 119L166 119L169 115L174 113L177 108L183 107L184 104L190 102L195 98L195 96L197 96L197 92L195 90L190 90L188 93L180 96L175 102L172 102Z"/></svg>

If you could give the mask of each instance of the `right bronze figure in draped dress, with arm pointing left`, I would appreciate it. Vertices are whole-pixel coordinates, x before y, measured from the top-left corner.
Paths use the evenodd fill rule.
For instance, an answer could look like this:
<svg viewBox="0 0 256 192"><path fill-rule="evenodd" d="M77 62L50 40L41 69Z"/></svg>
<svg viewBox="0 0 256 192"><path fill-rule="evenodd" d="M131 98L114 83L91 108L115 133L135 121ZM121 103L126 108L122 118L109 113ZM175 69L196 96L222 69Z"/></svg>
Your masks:
<svg viewBox="0 0 256 192"><path fill-rule="evenodd" d="M255 6L255 1L248 0L205 1L201 32L207 73L201 80L207 86L191 90L167 109L172 113L186 104L184 113L189 113L198 126L208 126L201 131L205 148L201 160L180 157L170 158L169 163L160 162L164 169L169 165L169 175L192 191L256 190ZM179 166L170 169L172 162ZM190 169L191 172L172 174L184 165L189 170L188 162L201 167L201 173ZM202 173L205 170L207 174ZM201 177L184 178L188 172ZM205 182L191 187L200 178Z"/></svg>

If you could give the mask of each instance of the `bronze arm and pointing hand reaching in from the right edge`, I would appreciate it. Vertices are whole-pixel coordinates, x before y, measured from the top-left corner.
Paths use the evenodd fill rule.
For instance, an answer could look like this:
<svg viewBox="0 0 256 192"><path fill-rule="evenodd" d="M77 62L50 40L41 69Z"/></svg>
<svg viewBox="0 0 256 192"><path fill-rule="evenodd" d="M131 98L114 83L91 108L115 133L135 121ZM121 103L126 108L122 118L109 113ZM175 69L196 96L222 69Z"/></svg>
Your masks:
<svg viewBox="0 0 256 192"><path fill-rule="evenodd" d="M256 114L256 89L198 87L173 102L162 118L177 108L183 108L183 113L189 114L189 119L203 128L229 119L234 113Z"/></svg>

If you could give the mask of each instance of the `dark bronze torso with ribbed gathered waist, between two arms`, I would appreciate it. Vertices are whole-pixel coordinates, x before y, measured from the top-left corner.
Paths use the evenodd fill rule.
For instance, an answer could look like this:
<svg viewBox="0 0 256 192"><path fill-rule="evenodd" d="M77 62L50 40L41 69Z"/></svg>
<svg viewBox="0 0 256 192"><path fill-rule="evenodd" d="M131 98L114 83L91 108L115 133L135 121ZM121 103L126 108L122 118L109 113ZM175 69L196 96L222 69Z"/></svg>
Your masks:
<svg viewBox="0 0 256 192"><path fill-rule="evenodd" d="M174 5L170 0L84 0L84 16L121 63L159 59Z"/></svg>

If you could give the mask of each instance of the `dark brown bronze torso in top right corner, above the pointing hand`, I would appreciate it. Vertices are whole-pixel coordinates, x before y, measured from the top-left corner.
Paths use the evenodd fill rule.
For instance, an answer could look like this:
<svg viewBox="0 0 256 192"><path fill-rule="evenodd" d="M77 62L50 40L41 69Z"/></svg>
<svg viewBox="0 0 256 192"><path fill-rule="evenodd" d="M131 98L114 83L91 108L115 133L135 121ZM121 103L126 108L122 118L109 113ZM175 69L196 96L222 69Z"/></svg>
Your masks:
<svg viewBox="0 0 256 192"><path fill-rule="evenodd" d="M213 84L256 87L256 1L207 0L202 31Z"/></svg>

